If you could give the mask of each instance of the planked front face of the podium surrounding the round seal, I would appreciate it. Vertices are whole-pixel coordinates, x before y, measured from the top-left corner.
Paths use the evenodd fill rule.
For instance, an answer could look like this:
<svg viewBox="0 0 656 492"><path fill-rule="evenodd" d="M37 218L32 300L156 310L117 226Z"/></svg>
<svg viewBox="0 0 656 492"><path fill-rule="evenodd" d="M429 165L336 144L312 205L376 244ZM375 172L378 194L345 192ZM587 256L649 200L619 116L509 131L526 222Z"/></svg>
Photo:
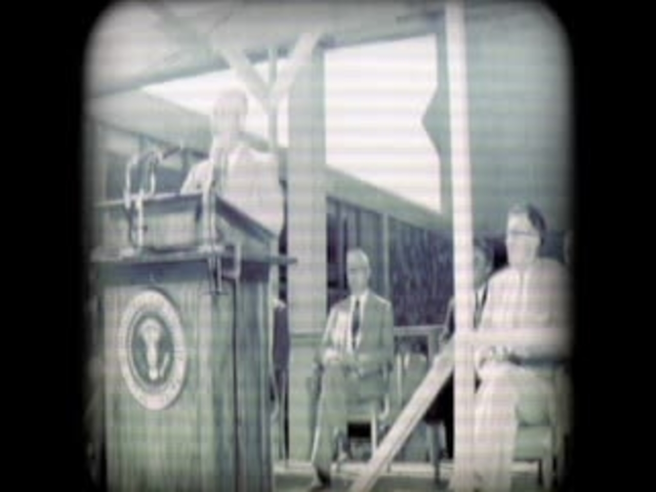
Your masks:
<svg viewBox="0 0 656 492"><path fill-rule="evenodd" d="M185 386L163 411L150 411L135 400L117 360L120 316L129 300L145 287L134 283L108 289L106 311L106 439L108 484L121 491L201 489L198 412L198 329L192 313L198 308L197 285L172 285L169 293L181 305L184 337L189 349Z"/></svg>

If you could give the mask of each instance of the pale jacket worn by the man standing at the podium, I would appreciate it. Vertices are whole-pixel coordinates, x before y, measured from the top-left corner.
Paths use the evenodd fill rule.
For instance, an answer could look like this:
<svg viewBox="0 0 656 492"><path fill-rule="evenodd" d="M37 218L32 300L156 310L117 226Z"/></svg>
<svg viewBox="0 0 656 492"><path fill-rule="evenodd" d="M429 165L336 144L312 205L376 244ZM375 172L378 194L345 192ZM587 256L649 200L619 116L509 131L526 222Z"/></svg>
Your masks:
<svg viewBox="0 0 656 492"><path fill-rule="evenodd" d="M276 159L242 143L229 162L221 197L279 236L285 217ZM180 193L200 192L211 173L211 160L198 163L184 180Z"/></svg>

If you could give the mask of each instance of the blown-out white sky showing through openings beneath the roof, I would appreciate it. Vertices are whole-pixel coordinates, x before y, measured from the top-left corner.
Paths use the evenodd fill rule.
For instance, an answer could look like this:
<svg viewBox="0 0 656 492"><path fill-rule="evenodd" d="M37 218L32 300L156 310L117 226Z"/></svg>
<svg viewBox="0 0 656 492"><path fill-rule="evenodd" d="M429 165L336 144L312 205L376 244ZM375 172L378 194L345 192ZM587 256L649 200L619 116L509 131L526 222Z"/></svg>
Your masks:
<svg viewBox="0 0 656 492"><path fill-rule="evenodd" d="M279 60L283 72L287 60ZM255 66L268 80L268 63ZM440 161L422 126L437 81L433 36L328 51L325 58L327 164L440 210ZM234 70L144 87L208 115L225 87L244 87ZM287 98L278 109L278 143L289 145ZM246 129L266 138L268 119L249 96Z"/></svg>

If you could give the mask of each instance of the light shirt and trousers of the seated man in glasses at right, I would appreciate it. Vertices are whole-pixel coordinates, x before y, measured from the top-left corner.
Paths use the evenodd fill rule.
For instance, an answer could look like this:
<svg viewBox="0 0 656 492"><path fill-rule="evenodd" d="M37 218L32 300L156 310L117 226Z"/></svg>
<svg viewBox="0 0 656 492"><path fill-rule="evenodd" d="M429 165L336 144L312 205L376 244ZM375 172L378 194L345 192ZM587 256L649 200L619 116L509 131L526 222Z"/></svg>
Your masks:
<svg viewBox="0 0 656 492"><path fill-rule="evenodd" d="M505 268L489 281L479 329L568 329L568 285L567 271L546 258L521 273ZM514 349L514 360L485 361L485 350L476 354L481 386L475 402L474 464L483 490L507 491L518 426L556 419L556 366L548 362L554 354L535 348Z"/></svg>

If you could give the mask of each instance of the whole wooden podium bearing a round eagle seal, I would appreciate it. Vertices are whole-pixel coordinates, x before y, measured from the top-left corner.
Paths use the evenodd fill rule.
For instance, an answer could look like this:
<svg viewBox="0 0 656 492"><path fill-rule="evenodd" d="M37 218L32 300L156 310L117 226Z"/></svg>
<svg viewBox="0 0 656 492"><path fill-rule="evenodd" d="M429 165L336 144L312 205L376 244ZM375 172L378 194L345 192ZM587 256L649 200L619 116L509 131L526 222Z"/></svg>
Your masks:
<svg viewBox="0 0 656 492"><path fill-rule="evenodd" d="M108 489L271 491L277 238L209 195L95 212Z"/></svg>

